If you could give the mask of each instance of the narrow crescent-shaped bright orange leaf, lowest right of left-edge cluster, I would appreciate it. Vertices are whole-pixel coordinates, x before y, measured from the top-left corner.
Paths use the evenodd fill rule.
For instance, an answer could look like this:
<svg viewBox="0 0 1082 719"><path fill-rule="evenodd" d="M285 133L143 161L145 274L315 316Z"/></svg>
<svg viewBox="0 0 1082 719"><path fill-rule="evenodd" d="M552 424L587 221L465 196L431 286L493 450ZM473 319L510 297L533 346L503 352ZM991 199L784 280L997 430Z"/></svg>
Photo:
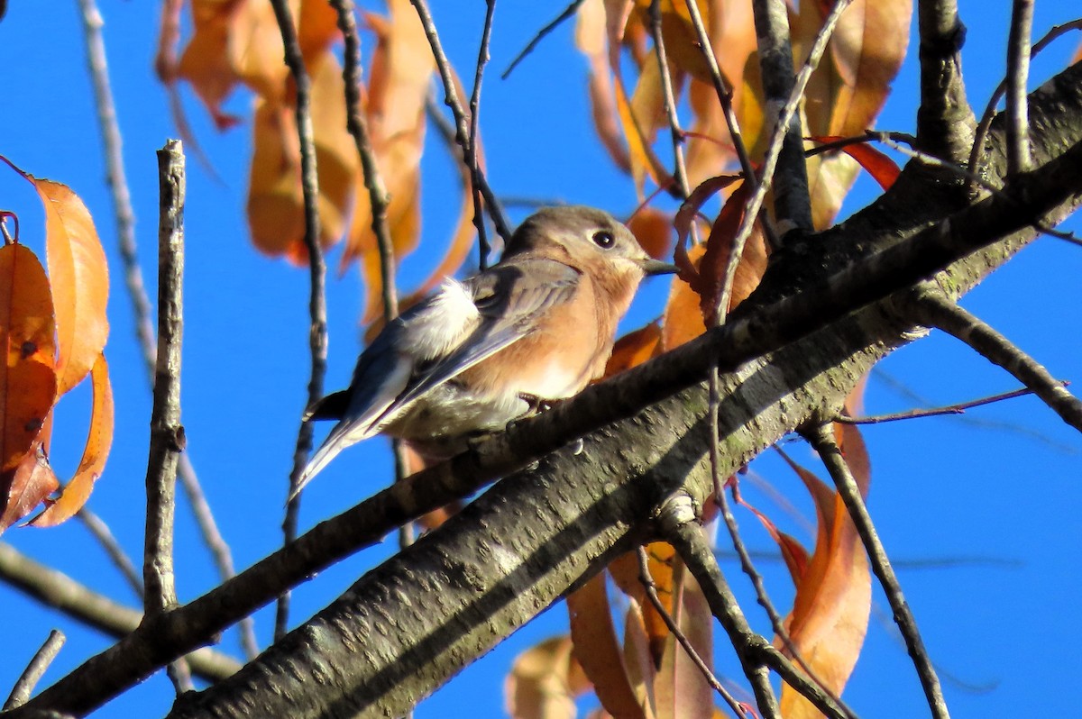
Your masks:
<svg viewBox="0 0 1082 719"><path fill-rule="evenodd" d="M55 527L70 519L87 503L94 482L105 468L105 461L113 444L113 387L109 384L109 368L104 355L97 356L97 361L91 371L91 381L94 387L94 403L91 409L87 445L82 451L79 468L60 497L30 520L29 523L34 527Z"/></svg>

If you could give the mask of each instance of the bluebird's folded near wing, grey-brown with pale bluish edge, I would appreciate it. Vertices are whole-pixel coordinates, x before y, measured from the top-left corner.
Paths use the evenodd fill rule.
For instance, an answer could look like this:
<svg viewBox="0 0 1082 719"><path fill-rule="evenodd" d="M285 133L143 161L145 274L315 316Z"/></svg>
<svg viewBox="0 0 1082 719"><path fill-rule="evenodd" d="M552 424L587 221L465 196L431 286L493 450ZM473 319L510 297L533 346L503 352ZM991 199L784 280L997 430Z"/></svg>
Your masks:
<svg viewBox="0 0 1082 719"><path fill-rule="evenodd" d="M477 329L458 349L419 368L406 391L374 424L385 424L425 394L522 339L539 317L575 295L580 277L563 263L524 257L496 265L463 282L480 312Z"/></svg>

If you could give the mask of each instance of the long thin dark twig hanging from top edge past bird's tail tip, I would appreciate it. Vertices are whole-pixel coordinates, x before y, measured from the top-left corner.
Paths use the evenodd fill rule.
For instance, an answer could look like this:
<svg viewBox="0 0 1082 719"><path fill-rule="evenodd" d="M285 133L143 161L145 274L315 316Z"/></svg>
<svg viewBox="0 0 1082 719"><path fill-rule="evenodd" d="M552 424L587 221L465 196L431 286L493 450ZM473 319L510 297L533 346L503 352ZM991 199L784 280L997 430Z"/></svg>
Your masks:
<svg viewBox="0 0 1082 719"><path fill-rule="evenodd" d="M301 189L304 194L304 247L308 251L308 275L311 292L308 296L308 348L312 357L312 373L308 376L308 401L311 407L324 396L324 375L327 373L327 263L319 244L319 176L316 169L315 131L312 127L312 81L304 67L301 43L296 37L292 13L287 0L270 0L278 30L289 67L296 86L296 133L301 145ZM374 214L374 213L373 213ZM301 497L296 482L312 451L313 428L311 422L302 422L296 431L296 449L293 452L293 469L289 475L289 500L286 516L281 522L283 544L296 538L296 518L300 514ZM275 640L286 636L289 625L289 592L278 598L275 615Z"/></svg>

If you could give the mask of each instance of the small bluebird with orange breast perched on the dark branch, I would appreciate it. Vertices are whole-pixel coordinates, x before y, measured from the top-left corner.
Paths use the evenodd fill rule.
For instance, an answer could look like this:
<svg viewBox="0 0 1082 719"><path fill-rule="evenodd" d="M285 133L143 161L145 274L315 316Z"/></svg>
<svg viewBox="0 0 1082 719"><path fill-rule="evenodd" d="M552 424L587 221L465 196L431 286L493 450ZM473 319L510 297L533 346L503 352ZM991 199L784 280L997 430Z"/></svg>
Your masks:
<svg viewBox="0 0 1082 719"><path fill-rule="evenodd" d="M471 436L579 392L605 370L617 322L644 276L674 271L601 210L533 214L498 264L461 282L446 279L390 322L357 360L349 388L308 410L306 418L339 423L296 491L375 434L446 458Z"/></svg>

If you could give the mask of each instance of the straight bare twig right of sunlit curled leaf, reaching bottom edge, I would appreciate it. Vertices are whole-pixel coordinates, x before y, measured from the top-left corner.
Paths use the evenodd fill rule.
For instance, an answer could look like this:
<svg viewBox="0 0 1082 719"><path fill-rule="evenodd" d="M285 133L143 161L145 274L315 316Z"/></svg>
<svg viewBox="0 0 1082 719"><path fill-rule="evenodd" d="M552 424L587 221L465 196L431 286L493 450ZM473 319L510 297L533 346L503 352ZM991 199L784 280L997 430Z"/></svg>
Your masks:
<svg viewBox="0 0 1082 719"><path fill-rule="evenodd" d="M849 518L857 529L857 534L860 535L860 541L863 543L868 558L871 561L872 571L875 572L875 576L883 587L887 602L889 602L890 609L894 612L895 623L897 623L898 630L901 631L901 636L906 640L906 648L909 650L909 656L913 660L913 666L916 668L916 674L920 677L921 687L924 689L924 696L927 698L932 716L936 717L936 719L948 719L950 714L947 710L947 703L944 700L942 688L939 685L939 678L936 676L935 667L932 666L932 660L928 658L928 653L924 649L921 633L916 627L916 620L909 610L906 596L901 591L901 585L894 573L894 569L890 567L886 549L883 548L883 543L880 542L879 534L875 532L871 516L868 514L865 501L860 496L860 489L857 487L857 481L854 479L853 472L849 471L849 467L842 456L842 450L839 448L837 442L834 441L833 430L829 424L820 424L807 431L805 437L812 442L816 452L819 453L819 458L827 466L831 479L834 480L834 484L837 487L837 493L841 495L842 501L845 503L845 508L849 512Z"/></svg>

